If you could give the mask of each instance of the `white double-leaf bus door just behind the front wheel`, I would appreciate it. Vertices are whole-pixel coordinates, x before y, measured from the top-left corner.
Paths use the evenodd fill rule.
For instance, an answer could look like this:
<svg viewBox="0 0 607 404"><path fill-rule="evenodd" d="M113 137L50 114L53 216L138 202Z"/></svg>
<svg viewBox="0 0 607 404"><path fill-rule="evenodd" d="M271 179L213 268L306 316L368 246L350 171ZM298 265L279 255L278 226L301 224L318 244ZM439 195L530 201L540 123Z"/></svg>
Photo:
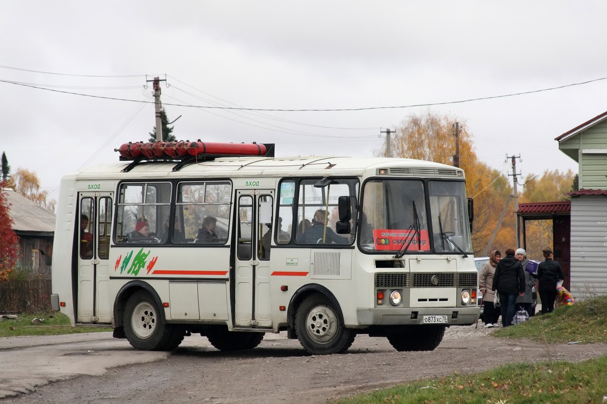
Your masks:
<svg viewBox="0 0 607 404"><path fill-rule="evenodd" d="M237 195L234 326L271 328L270 261L262 234L271 223L274 191L242 190Z"/></svg>

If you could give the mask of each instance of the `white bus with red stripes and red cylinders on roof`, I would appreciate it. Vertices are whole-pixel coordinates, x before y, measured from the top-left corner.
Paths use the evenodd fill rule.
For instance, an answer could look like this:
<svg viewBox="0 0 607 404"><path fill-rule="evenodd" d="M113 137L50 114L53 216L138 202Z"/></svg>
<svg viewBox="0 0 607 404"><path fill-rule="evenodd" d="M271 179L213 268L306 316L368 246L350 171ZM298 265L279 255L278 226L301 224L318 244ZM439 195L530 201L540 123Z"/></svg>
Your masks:
<svg viewBox="0 0 607 404"><path fill-rule="evenodd" d="M250 349L286 331L333 354L356 334L432 350L446 326L478 320L459 168L273 157L273 144L117 151L61 179L52 303L73 326L112 327L143 350L191 334Z"/></svg>

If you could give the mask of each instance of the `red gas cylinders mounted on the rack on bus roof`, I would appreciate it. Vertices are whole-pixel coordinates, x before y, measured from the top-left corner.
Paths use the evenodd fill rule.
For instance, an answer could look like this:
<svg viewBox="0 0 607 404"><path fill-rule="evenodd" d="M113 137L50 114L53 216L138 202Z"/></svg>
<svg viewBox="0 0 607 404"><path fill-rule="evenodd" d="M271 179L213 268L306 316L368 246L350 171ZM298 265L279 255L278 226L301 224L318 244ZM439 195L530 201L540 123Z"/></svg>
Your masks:
<svg viewBox="0 0 607 404"><path fill-rule="evenodd" d="M131 171L141 162L175 161L173 171L179 171L197 161L209 161L219 157L274 157L273 143L217 143L203 142L129 142L115 148L120 161L131 161L123 173Z"/></svg>

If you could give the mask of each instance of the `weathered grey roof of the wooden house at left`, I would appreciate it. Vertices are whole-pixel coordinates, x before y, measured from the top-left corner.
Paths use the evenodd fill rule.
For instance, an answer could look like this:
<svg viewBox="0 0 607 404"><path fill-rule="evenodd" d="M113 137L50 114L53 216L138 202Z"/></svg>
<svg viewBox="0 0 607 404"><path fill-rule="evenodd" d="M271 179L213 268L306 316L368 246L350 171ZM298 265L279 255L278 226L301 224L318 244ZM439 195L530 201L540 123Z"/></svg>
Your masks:
<svg viewBox="0 0 607 404"><path fill-rule="evenodd" d="M12 189L3 189L8 200L8 216L13 219L15 233L42 233L52 236L56 215Z"/></svg>

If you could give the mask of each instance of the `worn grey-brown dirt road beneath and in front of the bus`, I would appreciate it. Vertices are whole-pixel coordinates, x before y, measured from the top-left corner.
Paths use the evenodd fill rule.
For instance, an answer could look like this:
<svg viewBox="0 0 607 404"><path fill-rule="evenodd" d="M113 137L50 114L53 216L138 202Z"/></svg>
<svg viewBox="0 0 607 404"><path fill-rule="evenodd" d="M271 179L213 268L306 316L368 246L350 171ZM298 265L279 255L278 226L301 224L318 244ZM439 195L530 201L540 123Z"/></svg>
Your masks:
<svg viewBox="0 0 607 404"><path fill-rule="evenodd" d="M577 361L607 354L607 345L541 345L489 337L490 330L452 327L432 352L399 353L382 338L358 336L346 354L310 356L297 340L271 334L251 351L224 353L203 337L189 337L174 353L110 368L96 376L78 376L0 404L45 403L325 403L327 400L393 385L432 379L453 371L469 373L504 363L538 360ZM140 353L115 340L99 347L96 362ZM82 362L84 353L71 360ZM103 351L103 349L107 349ZM27 349L23 349L27 351ZM114 355L112 355L112 353ZM3 352L0 357L4 357ZM158 354L158 353L156 353ZM0 365L2 365L0 359ZM97 366L100 366L98 364ZM5 376L1 376L3 379Z"/></svg>

